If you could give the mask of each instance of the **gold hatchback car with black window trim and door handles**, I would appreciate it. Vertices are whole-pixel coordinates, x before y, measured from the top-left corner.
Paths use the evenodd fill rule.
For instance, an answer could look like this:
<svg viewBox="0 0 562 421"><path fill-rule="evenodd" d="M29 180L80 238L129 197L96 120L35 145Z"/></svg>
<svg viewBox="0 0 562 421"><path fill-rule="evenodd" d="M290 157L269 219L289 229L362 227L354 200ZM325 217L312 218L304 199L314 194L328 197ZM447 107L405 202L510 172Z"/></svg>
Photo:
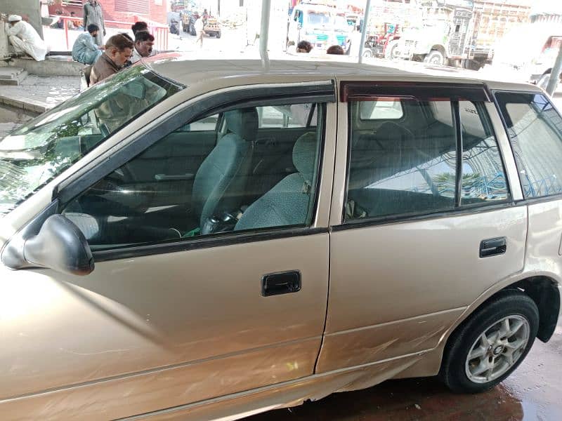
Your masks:
<svg viewBox="0 0 562 421"><path fill-rule="evenodd" d="M2 420L480 392L555 330L562 119L445 70L157 56L1 140L0 216Z"/></svg>

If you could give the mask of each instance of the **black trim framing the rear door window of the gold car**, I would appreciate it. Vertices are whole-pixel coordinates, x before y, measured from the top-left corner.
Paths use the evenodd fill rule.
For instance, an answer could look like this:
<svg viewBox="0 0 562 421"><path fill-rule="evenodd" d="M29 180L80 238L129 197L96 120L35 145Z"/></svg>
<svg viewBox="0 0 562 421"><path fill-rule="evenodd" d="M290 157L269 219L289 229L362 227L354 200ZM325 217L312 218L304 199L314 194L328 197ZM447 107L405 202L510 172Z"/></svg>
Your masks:
<svg viewBox="0 0 562 421"><path fill-rule="evenodd" d="M342 88L341 91L344 91L344 83L346 82L342 82ZM348 83L349 85L351 85L351 83ZM428 95L428 93L431 92L431 86L433 83L419 83L419 85L421 85L421 93L423 93L423 95L421 95L421 98L416 98L415 95L412 95L412 93L408 94L406 93L406 91L403 91L403 93L400 93L399 91L395 93L393 93L393 96L396 96L397 98L412 98L412 99L418 99L418 100L427 100L428 98L426 98L425 95ZM364 82L360 82L359 85L364 85ZM455 91L455 86L453 85L447 85L447 86L443 86L443 83L434 83L435 85L435 89L438 89L438 93L435 93L435 91L433 91L433 97L434 98L447 98L448 101L451 102L451 107L452 107L452 112L454 112L453 114L453 122L455 123L455 136L457 137L457 167L458 167L458 161L459 161L459 155L460 155L460 159L461 159L461 163L462 163L462 157L463 157L463 153L459 154L459 141L462 142L462 126L461 123L462 121L460 120L460 112L459 112L459 101L470 101L470 102L492 102L495 103L495 95L490 95L492 94L492 92L490 90L488 90L488 87L485 85L467 85L466 91L472 93L473 95L475 95L474 97L471 96L471 98L464 98L463 96L459 95L458 93L455 95L447 95L447 93L450 92L454 92ZM383 86L379 86L377 84L377 90L381 90L381 95L385 95L385 91L384 91L384 87L388 87L388 86L392 86L393 88L397 88L398 84L395 85L389 85L384 84ZM354 87L355 88L355 87ZM405 88L405 86L400 86L400 88L403 88L404 90L407 90L407 88ZM479 95L476 93L476 91L480 89L481 90L481 94L483 95L483 98L485 99L476 99L476 97ZM455 216L455 215L462 215L462 214L466 214L466 213L482 213L482 212L488 212L488 210L497 210L497 209L501 209L501 208L509 208L512 206L518 206L520 204L520 201L514 201L513 199L513 195L511 194L511 187L509 185L509 179L507 178L507 169L505 166L505 162L504 162L504 157L502 156L502 152L501 152L501 147L499 147L499 141L497 140L497 133L493 128L493 125L490 124L490 117L488 115L488 110L483 108L483 112L486 113L486 119L488 121L488 124L490 124L490 130L492 135L495 138L495 141L497 143L497 150L499 153L499 159L502 162L502 168L504 171L504 177L505 177L505 182L506 182L506 187L507 187L507 199L501 200L501 201L493 201L490 203L473 203L473 204L466 204L463 205L462 201L460 201L459 206L457 206L457 190L455 191L455 208L449 209L449 210L427 210L427 211L421 211L421 212L415 212L415 213L401 213L401 214L396 214L396 215L384 215L384 216L377 216L377 217L372 217L372 218L363 218L363 219L357 219L357 220L349 220L346 221L346 203L347 203L347 198L348 198L348 185L349 185L349 167L351 165L351 129L352 129L352 116L351 116L351 107L355 102L360 102L360 101L365 101L365 100L370 100L369 97L376 97L377 95L362 95L361 93L358 92L342 92L341 93L341 101L342 102L348 102L348 133L347 133L347 156L346 156L346 181L345 181L345 191L344 191L344 204L342 206L342 210L341 210L341 219L339 222L339 225L332 225L330 227L331 230L334 231L340 231L340 230L344 230L344 229L355 229L358 227L370 227L370 226L377 226L377 225L386 225L388 223L395 223L395 222L411 222L411 221L416 221L416 220L428 220L428 219L433 219L433 218L445 218L445 217L449 217L449 216ZM386 96L388 96L388 93L386 93ZM469 96L469 95L465 95L465 96ZM355 99L357 98L357 99ZM431 98L429 98L431 100ZM345 101L344 101L345 100ZM458 110L458 120L455 119L455 114L457 113L455 111L455 106L453 105L453 103L456 102L457 103L457 110ZM496 104L497 107L497 104ZM499 113L501 114L501 113ZM482 116L481 116L482 119ZM458 123L457 123L458 121ZM505 126L504 126L505 127ZM507 132L506 132L507 133ZM509 136L508 136L509 137ZM462 152L462 143L460 145L460 150ZM511 149L511 148L510 148ZM460 177L459 177L459 173L460 172ZM457 186L456 188L458 189L458 184L459 182L462 185L462 165L459 171L459 168L457 168ZM460 192L458 193L460 194ZM562 195L562 194L561 194ZM459 198L460 199L460 198Z"/></svg>

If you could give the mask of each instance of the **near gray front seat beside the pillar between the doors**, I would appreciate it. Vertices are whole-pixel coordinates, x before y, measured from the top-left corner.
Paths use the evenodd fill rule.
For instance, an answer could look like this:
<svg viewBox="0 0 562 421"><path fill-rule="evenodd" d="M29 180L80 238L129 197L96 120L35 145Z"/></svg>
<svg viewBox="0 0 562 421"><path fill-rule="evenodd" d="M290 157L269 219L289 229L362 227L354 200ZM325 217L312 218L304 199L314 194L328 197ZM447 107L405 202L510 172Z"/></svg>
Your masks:
<svg viewBox="0 0 562 421"><path fill-rule="evenodd" d="M287 175L247 208L235 231L287 225L306 225L313 194L317 150L316 133L305 133L293 147L297 173Z"/></svg>

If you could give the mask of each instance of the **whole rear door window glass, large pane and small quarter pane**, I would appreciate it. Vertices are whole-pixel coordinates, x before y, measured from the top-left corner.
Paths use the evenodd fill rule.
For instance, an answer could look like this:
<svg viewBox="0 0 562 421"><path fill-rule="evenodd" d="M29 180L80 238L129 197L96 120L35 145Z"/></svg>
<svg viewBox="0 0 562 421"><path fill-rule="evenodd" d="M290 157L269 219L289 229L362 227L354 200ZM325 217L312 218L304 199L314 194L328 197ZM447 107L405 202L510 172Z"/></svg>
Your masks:
<svg viewBox="0 0 562 421"><path fill-rule="evenodd" d="M457 192L459 142L450 100L399 99L396 121L387 110L351 103L345 220L443 212L507 199L504 169L487 114L461 101L462 188Z"/></svg>

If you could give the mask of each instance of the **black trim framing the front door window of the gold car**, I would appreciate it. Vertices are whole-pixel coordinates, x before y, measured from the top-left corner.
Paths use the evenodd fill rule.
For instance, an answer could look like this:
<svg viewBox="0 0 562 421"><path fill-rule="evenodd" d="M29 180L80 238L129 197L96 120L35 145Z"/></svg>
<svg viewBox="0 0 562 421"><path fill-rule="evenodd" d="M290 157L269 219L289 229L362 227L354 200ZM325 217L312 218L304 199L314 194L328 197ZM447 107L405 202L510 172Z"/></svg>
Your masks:
<svg viewBox="0 0 562 421"><path fill-rule="evenodd" d="M296 88L296 89L292 89ZM303 89L304 88L304 89ZM233 95L228 95L228 94ZM240 93L247 95L240 95ZM225 96L228 99L225 100ZM231 96L236 96L236 104L233 105L230 100ZM240 96L247 96L247 100L240 99ZM230 100L230 101L229 101ZM143 152L146 148L157 142L162 135L176 130L183 125L185 121L195 121L209 114L216 114L215 110L226 112L230 109L238 109L240 107L256 107L266 105L287 105L301 104L306 102L328 104L336 101L335 85L332 83L318 83L316 86L285 86L280 88L255 88L244 89L242 91L232 91L228 93L213 95L205 98L200 102L184 107L179 112L170 116L162 123L159 123L145 138L133 141L119 149L112 155L112 159L107 159L90 171L81 175L69 185L57 191L53 191L53 201L58 203L56 212L60 213L69 201L79 196L81 192L91 187L93 184L101 180L103 177L115 171L123 163ZM217 104L218 102L218 104ZM221 104L226 105L221 106ZM314 222L318 214L318 203L320 199L320 186L322 182L322 164L325 153L325 138L327 128L327 106L322 107L322 116L318 113L321 122L320 127L320 148L318 151L318 174L315 181L315 196L313 200L313 208L311 215L311 223ZM318 131L318 128L316 130ZM141 147L142 146L142 147ZM114 156L121 152L122 156L113 159ZM121 163L123 162L123 163ZM118 260L124 258L155 255L162 253L174 253L178 251L192 250L196 248L211 248L215 246L227 246L237 243L249 243L254 241L266 241L271 239L282 239L293 236L305 236L312 234L322 234L328 232L327 227L303 227L302 225L291 225L283 227L266 227L244 232L228 232L221 234L213 234L211 236L197 237L195 239L185 238L179 241L162 241L159 243L149 243L142 245L134 245L129 247L114 248L107 250L92 250L95 262L103 262L107 260Z"/></svg>

